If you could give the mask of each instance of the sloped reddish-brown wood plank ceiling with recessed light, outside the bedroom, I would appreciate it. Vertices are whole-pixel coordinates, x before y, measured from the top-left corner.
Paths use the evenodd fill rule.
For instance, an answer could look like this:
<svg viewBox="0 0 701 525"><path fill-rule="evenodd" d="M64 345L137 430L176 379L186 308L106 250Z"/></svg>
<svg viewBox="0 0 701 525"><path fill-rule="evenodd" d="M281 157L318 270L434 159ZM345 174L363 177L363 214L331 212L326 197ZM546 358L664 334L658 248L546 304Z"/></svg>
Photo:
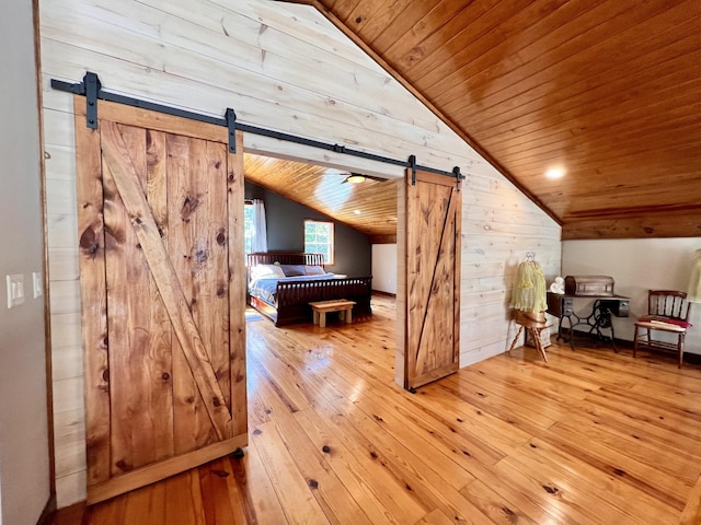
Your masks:
<svg viewBox="0 0 701 525"><path fill-rule="evenodd" d="M563 238L701 235L699 0L301 3L561 222ZM553 168L565 175L548 178Z"/></svg>

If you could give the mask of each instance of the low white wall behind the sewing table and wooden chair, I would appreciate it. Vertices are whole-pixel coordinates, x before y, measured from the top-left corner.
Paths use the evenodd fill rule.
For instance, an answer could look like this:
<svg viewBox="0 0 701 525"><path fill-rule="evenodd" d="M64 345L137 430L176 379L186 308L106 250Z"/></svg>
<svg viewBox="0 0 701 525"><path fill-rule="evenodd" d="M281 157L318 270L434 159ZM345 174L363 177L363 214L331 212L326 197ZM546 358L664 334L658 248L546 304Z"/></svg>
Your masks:
<svg viewBox="0 0 701 525"><path fill-rule="evenodd" d="M647 290L687 291L691 262L701 237L611 241L565 241L562 243L563 276L611 276L614 292L631 298L630 317L613 317L616 337L633 340L635 318L647 312ZM581 304L582 303L582 304ZM577 301L577 311L589 302ZM701 353L701 304L691 306L691 323L685 352Z"/></svg>

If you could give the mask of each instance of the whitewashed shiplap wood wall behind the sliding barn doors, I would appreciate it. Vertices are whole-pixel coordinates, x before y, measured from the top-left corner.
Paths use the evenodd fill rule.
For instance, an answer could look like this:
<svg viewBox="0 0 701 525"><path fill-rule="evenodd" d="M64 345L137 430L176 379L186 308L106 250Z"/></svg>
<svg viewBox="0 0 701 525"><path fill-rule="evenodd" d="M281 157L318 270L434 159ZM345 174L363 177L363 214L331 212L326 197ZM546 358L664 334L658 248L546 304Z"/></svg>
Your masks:
<svg viewBox="0 0 701 525"><path fill-rule="evenodd" d="M461 364L508 348L516 265L560 268L560 228L310 7L267 0L39 0L58 505L84 498L85 458L71 96L103 89L468 175ZM402 168L249 136L254 152L403 176Z"/></svg>

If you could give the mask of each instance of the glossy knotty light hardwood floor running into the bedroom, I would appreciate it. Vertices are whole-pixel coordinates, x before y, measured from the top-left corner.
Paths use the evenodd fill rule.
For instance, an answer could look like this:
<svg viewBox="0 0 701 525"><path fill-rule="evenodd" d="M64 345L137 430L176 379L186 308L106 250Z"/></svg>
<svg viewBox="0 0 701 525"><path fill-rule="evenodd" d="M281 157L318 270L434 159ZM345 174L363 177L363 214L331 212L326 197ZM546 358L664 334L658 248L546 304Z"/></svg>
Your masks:
<svg viewBox="0 0 701 525"><path fill-rule="evenodd" d="M701 366L608 347L502 354L410 394L393 300L326 328L249 323L227 457L55 525L699 524Z"/></svg>

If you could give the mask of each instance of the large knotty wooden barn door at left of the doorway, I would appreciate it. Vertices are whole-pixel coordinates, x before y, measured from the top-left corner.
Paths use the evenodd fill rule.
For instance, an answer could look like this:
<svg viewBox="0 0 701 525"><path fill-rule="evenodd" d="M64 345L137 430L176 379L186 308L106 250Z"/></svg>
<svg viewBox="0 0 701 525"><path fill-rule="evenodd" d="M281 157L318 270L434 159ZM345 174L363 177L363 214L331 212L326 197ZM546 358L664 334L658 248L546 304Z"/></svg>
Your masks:
<svg viewBox="0 0 701 525"><path fill-rule="evenodd" d="M228 153L226 129L200 138L191 128L202 125L108 103L97 129L88 129L81 102L93 503L248 444L243 168L242 149Z"/></svg>

